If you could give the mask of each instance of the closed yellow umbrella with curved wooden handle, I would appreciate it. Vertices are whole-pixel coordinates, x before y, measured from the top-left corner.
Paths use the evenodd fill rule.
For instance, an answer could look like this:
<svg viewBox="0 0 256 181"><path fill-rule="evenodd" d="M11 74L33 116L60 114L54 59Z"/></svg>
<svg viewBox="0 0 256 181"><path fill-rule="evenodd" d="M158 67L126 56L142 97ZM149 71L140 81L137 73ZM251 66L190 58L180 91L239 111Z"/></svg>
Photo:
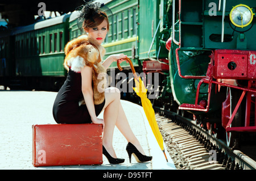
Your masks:
<svg viewBox="0 0 256 181"><path fill-rule="evenodd" d="M152 107L150 100L147 98L147 89L145 88L143 82L141 81L141 78L137 76L130 58L126 58L126 61L129 62L131 66L131 70L133 71L133 74L135 77L134 81L135 81L136 87L134 87L133 89L136 92L136 94L139 97L141 97L142 107L147 117L148 123L150 124L150 127L152 129L152 132L154 133L156 141L158 141L158 145L160 146L160 149L163 151L164 157L166 157L166 153L164 152L164 146L163 146L163 137L159 131L158 124L156 123L155 111ZM120 71L123 70L119 62L117 62L117 66ZM167 157L166 157L166 161L168 162Z"/></svg>

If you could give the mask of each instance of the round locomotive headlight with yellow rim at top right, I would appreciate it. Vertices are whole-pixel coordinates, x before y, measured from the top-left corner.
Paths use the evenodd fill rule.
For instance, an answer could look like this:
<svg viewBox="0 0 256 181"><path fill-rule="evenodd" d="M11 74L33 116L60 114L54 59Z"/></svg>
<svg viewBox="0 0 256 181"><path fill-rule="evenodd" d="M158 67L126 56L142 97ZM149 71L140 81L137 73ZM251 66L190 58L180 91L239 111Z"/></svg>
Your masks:
<svg viewBox="0 0 256 181"><path fill-rule="evenodd" d="M253 21L254 13L249 6L237 5L230 11L230 21L236 27L246 27Z"/></svg>

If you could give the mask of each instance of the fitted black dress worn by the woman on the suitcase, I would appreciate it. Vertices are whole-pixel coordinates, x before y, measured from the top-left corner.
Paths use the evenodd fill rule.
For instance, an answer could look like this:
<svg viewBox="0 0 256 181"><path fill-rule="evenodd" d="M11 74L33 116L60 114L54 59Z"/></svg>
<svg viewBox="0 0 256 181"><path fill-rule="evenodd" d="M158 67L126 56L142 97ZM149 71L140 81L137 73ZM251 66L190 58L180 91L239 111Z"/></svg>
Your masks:
<svg viewBox="0 0 256 181"><path fill-rule="evenodd" d="M79 101L83 99L81 73L69 69L64 85L59 90L53 104L53 117L56 123L82 124L92 123L86 105L79 106ZM96 116L98 116L105 105L103 103L94 105Z"/></svg>

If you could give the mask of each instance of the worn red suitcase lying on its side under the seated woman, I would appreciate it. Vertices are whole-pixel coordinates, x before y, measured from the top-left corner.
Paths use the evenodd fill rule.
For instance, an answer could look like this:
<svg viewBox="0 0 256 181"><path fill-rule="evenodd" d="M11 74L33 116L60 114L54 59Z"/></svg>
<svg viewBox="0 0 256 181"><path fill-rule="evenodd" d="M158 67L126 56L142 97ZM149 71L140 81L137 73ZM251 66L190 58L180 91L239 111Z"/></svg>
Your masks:
<svg viewBox="0 0 256 181"><path fill-rule="evenodd" d="M44 124L32 129L35 167L103 162L101 124Z"/></svg>

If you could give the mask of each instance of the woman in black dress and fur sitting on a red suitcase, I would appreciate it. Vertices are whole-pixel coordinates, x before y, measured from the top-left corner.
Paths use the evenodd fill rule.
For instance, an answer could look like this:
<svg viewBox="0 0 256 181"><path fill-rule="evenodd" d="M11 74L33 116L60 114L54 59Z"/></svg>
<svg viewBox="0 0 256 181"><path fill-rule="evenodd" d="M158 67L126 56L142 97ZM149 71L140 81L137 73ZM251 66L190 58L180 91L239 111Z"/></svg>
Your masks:
<svg viewBox="0 0 256 181"><path fill-rule="evenodd" d="M112 62L122 62L124 54L113 54L101 64L105 49L100 45L109 30L108 16L102 11L102 5L86 3L80 20L87 35L70 41L65 47L64 66L68 69L67 80L61 87L53 104L53 117L57 123L103 124L102 153L110 163L122 163L125 159L117 158L113 149L114 127L125 136L128 144L126 151L131 162L134 153L138 162L150 161L142 146L131 131L125 112L120 103L120 92L115 87L104 89L98 75L105 73ZM79 106L81 99L84 104ZM97 116L104 110L104 119Z"/></svg>

